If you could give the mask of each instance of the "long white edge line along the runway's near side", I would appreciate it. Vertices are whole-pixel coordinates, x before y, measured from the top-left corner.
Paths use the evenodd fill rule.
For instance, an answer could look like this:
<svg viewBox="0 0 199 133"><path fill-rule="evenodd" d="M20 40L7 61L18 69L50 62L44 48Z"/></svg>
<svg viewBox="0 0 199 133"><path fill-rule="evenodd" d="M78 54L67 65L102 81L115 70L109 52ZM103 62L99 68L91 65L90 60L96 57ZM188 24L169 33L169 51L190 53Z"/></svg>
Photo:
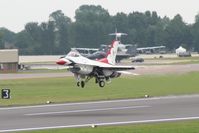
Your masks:
<svg viewBox="0 0 199 133"><path fill-rule="evenodd" d="M110 126L110 125L124 125L124 124L152 123L152 122L167 122L167 121L195 120L195 119L199 119L199 116L198 116L198 117L182 117L182 118L167 118L167 119L140 120L140 121L123 121L123 122L108 122L108 123L90 123L90 124L81 124L81 125L66 125L66 126L51 126L51 127L35 127L35 128L7 129L7 130L0 130L0 133L4 133L4 132L18 132L18 131L32 131L32 130L44 130L44 129L90 127L91 125L96 125L96 126Z"/></svg>

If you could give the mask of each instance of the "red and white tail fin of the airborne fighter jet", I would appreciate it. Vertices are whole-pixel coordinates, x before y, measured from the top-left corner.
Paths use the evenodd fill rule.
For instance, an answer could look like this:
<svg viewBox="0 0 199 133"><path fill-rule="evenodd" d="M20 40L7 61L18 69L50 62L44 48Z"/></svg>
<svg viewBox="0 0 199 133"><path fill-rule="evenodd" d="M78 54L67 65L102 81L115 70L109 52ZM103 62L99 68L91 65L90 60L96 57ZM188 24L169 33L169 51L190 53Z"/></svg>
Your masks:
<svg viewBox="0 0 199 133"><path fill-rule="evenodd" d="M111 44L110 49L107 52L106 58L100 59L100 62L108 63L111 65L115 64L115 59L117 55L117 49L118 49L119 41L113 41Z"/></svg>

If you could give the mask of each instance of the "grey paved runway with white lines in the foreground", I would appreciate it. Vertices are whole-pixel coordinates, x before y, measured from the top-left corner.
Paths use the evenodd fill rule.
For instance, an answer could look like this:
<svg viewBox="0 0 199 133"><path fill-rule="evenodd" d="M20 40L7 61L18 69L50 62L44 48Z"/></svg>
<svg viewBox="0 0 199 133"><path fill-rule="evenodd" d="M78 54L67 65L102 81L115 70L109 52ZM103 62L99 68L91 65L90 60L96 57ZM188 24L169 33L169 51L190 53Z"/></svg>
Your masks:
<svg viewBox="0 0 199 133"><path fill-rule="evenodd" d="M0 132L199 119L199 95L0 108Z"/></svg>

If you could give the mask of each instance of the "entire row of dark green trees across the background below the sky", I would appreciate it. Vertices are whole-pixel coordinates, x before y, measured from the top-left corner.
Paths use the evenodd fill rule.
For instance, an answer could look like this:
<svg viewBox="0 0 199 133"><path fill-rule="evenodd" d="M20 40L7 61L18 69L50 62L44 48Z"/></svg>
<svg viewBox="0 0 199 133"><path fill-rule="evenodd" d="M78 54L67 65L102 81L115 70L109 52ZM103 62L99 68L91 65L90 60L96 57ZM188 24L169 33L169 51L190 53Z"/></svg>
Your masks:
<svg viewBox="0 0 199 133"><path fill-rule="evenodd" d="M29 22L18 33L0 28L0 48L18 48L22 55L65 54L71 47L109 44L113 38L108 33L116 28L128 34L123 43L138 47L165 45L169 50L183 46L199 51L199 14L193 24L187 24L179 14L173 19L160 17L155 11L111 16L106 9L94 5L80 6L74 22L58 10L49 15L47 22Z"/></svg>

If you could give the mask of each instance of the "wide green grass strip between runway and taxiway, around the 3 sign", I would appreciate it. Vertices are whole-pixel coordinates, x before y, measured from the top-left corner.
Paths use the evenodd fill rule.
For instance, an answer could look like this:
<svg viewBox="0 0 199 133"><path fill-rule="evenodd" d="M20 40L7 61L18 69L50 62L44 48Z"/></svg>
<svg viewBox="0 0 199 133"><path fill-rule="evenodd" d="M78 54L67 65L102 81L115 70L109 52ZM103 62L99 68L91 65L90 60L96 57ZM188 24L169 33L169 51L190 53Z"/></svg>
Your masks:
<svg viewBox="0 0 199 133"><path fill-rule="evenodd" d="M100 88L93 80L85 88L73 77L17 79L0 81L0 89L10 88L11 99L0 99L0 106L140 98L199 93L199 72L182 75L120 77Z"/></svg>

